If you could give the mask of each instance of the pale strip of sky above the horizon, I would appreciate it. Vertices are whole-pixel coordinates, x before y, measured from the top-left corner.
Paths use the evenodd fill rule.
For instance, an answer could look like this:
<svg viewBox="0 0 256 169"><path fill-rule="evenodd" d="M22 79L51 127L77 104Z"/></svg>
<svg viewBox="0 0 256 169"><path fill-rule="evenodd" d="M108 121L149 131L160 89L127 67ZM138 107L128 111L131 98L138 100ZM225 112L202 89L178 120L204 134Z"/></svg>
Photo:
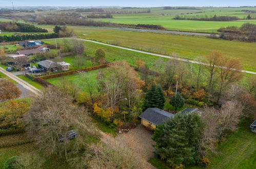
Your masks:
<svg viewBox="0 0 256 169"><path fill-rule="evenodd" d="M122 6L122 7L163 7L163 6L214 6L214 7L239 7L256 6L256 0L0 0L0 7L4 6Z"/></svg>

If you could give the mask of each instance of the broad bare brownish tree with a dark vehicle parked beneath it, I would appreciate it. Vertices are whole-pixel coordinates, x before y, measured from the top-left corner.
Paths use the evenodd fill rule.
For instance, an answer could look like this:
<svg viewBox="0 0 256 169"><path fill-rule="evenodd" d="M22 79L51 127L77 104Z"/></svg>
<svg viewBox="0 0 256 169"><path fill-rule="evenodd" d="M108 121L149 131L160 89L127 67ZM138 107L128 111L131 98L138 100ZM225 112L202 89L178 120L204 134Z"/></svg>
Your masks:
<svg viewBox="0 0 256 169"><path fill-rule="evenodd" d="M48 87L33 99L31 110L25 115L29 136L43 155L77 154L87 147L88 135L97 137L96 128L87 112L72 103L72 99L55 87ZM66 133L75 130L74 141L67 139ZM60 137L63 140L60 141Z"/></svg>

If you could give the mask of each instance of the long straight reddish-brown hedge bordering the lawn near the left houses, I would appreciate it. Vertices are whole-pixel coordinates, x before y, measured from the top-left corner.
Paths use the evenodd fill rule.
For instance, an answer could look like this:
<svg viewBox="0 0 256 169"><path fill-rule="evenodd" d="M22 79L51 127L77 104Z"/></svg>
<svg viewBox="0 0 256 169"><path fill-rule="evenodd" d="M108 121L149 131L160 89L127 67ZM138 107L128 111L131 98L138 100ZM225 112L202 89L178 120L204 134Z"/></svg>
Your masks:
<svg viewBox="0 0 256 169"><path fill-rule="evenodd" d="M40 78L41 79L49 79L49 78L54 78L54 77L76 74L76 73L80 73L80 72L88 72L88 71L92 71L92 70L107 68L112 64L113 63L105 64L105 65L101 65L101 66L90 67L90 68L86 68L86 69L73 70L73 71L68 71L68 72L56 73L56 74L52 74L52 75L40 76Z"/></svg>

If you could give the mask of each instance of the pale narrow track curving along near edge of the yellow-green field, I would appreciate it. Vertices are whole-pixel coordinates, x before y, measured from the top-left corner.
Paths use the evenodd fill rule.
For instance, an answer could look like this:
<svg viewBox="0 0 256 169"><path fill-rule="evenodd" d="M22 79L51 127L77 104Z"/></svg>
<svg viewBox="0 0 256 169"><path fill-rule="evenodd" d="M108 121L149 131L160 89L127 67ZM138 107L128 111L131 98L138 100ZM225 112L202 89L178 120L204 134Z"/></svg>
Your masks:
<svg viewBox="0 0 256 169"><path fill-rule="evenodd" d="M110 45L110 44L105 44L105 43L100 43L99 41L94 41L94 40L81 39L81 38L58 38L58 39L77 39L77 40L89 41L89 42L91 42L91 43L100 44L100 45L105 45L105 46L114 47L114 48L119 48L119 49L124 49L124 50L128 50L128 51L139 52L139 53L144 53L144 54L148 54L148 55L152 55L152 56L158 56L158 57L164 57L164 58L169 58L169 59L175 59L175 60L190 62L190 63L192 63L192 64L198 64L198 65L206 65L206 66L209 66L209 64L205 64L205 63L199 62L199 61L193 61L193 60L188 60L188 59L184 59L184 58L176 58L176 57L167 56L167 55L161 55L161 54L155 54L155 53L150 53L150 52L144 52L144 51L140 51L140 50L125 48L125 47L120 47L120 46L115 46L115 45ZM47 40L47 39L46 39L46 40ZM49 40L49 39L48 39L48 40ZM246 71L246 70L240 70L240 72L244 72L244 73L249 73L249 74L254 74L254 75L256 75L256 72L251 72L251 71Z"/></svg>

